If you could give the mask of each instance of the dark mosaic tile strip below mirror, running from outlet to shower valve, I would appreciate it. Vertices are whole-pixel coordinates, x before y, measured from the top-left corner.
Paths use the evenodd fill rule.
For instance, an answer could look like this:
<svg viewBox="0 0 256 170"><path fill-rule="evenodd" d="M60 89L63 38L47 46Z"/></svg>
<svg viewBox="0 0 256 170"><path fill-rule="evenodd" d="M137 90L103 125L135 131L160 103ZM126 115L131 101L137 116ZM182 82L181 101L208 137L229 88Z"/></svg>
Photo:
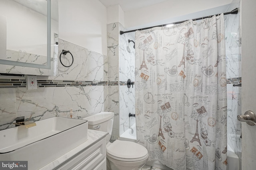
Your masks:
<svg viewBox="0 0 256 170"><path fill-rule="evenodd" d="M102 82L78 80L37 80L40 87L71 87L71 86L118 86L127 85L127 82ZM26 78L0 78L0 88L26 88Z"/></svg>

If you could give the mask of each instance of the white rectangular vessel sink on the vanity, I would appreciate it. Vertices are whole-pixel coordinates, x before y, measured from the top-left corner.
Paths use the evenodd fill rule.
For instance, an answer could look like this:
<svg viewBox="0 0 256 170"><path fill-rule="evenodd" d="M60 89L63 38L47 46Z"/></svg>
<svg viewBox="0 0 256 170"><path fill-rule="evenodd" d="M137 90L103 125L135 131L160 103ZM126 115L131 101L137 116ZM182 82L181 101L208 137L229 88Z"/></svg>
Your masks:
<svg viewBox="0 0 256 170"><path fill-rule="evenodd" d="M28 170L39 169L87 140L88 121L51 117L36 126L0 131L0 160L28 161Z"/></svg>

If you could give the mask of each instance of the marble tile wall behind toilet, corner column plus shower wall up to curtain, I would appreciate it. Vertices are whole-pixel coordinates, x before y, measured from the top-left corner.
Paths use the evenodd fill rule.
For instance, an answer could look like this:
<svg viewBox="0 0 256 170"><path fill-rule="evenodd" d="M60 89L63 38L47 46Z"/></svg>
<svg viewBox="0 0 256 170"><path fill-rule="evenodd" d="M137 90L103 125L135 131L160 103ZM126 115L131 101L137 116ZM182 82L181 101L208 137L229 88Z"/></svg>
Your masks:
<svg viewBox="0 0 256 170"><path fill-rule="evenodd" d="M129 113L135 114L134 88L126 86L128 79L134 81L134 44L128 39L134 41L135 33L120 35L120 30L124 31L120 23L107 25L108 81L119 82L118 88L108 87L109 111L115 113L112 141L135 123L135 118L129 117Z"/></svg>

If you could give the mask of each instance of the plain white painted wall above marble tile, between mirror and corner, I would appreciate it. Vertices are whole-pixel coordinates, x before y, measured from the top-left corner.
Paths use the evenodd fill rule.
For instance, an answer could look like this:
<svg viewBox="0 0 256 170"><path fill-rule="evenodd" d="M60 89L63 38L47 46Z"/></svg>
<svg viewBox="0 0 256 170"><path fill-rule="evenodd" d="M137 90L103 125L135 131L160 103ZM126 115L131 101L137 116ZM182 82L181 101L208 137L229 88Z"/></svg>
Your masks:
<svg viewBox="0 0 256 170"><path fill-rule="evenodd" d="M107 10L98 0L59 0L59 38L107 55Z"/></svg>

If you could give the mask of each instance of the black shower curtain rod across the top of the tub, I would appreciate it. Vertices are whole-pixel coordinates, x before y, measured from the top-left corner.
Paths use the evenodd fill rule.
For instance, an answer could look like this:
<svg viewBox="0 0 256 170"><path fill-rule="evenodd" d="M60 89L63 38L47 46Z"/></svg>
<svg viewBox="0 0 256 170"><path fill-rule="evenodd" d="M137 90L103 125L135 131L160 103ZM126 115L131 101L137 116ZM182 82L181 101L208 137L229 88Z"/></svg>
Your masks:
<svg viewBox="0 0 256 170"><path fill-rule="evenodd" d="M227 15L227 14L238 14L238 8L232 10L231 12L226 12L224 13L224 15ZM216 14L217 15L220 15L220 14ZM214 15L212 15L214 16ZM202 20L204 18L211 18L212 16L206 16L206 17L201 17L201 18L194 18L192 20ZM166 25L169 25L169 24L178 24L178 23L182 23L182 22L185 22L185 21L188 21L188 20L184 20L184 21L178 21L178 22L174 22L174 23L167 23L167 24L163 24L163 25L156 25L156 26L153 26L153 27L162 27L162 26L166 26ZM137 30L144 30L144 29L150 29L150 28L153 28L153 27L146 27L146 28L140 28L140 29L134 29L134 30L130 30L130 31L120 31L120 35L123 35L124 33L130 33L130 32L134 32L134 31L137 31Z"/></svg>

